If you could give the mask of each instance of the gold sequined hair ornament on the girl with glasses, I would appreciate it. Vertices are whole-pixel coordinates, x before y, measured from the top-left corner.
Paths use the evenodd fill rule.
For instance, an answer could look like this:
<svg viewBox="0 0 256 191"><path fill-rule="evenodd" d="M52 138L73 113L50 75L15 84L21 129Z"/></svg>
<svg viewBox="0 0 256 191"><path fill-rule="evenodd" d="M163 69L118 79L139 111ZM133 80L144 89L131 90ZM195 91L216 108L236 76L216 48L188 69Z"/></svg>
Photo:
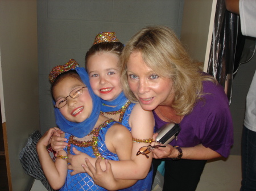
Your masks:
<svg viewBox="0 0 256 191"><path fill-rule="evenodd" d="M58 75L60 75L61 73L64 73L65 71L75 69L76 67L79 67L79 63L77 63L73 59L69 60L64 65L55 66L53 67L52 71L49 73L49 80L51 81L51 83L53 83Z"/></svg>

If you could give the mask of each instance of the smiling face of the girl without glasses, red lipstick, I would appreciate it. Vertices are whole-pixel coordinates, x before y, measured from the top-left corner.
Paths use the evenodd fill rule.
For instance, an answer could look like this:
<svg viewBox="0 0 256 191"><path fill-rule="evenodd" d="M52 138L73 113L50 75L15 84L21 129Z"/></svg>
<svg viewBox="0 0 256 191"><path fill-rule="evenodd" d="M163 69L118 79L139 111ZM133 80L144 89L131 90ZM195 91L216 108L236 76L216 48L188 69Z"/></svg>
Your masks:
<svg viewBox="0 0 256 191"><path fill-rule="evenodd" d="M112 101L122 92L119 58L114 53L100 52L89 57L86 70L94 94L106 101Z"/></svg>

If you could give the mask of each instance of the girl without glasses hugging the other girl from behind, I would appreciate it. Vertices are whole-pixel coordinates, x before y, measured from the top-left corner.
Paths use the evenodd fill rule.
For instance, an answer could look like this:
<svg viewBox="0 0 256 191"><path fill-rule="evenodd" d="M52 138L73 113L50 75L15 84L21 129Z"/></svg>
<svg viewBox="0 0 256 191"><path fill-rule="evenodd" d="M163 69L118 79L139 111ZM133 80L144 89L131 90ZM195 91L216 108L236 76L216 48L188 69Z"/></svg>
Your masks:
<svg viewBox="0 0 256 191"><path fill-rule="evenodd" d="M154 117L151 111L142 109L139 104L131 103L123 94L119 70L119 56L122 49L123 44L117 40L114 32L99 33L94 45L86 53L86 71L88 71L94 94L101 98L101 113L121 122L131 131L133 137L133 151L131 154L131 160L134 162L133 168L119 162L109 161L112 164L114 177L138 180L129 190L151 190L152 171L150 167L152 154L148 153L147 158L144 155L137 156L137 152L139 148L148 146L152 141ZM64 141L64 139L53 136L51 142L53 150L59 151L63 146L66 146L64 142L60 141ZM71 163L69 169L73 169L72 175L85 172L81 165L85 163L85 158L88 158L89 162L95 167L96 159L76 150L74 152L75 156L68 156L68 162ZM105 171L105 163L98 163ZM122 173L119 172L119 169L122 169ZM98 170L101 171L101 169ZM88 168L87 171L89 171ZM96 177L97 174L94 173L93 176ZM97 183L104 184L104 182Z"/></svg>

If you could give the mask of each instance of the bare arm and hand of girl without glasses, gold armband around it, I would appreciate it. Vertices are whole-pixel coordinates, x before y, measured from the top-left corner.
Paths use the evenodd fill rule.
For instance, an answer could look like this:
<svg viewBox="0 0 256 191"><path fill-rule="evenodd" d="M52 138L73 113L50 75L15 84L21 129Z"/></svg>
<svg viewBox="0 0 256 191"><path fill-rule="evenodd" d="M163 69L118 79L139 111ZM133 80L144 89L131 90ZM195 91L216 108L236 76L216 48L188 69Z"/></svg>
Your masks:
<svg viewBox="0 0 256 191"><path fill-rule="evenodd" d="M153 129L154 129L154 117L152 115L152 112L150 111L144 111L139 104L135 105L130 119L129 123L131 128L131 133L133 134L134 138L137 139L149 139L152 138ZM131 135L127 135L127 137L130 137ZM126 138L127 138L126 137ZM122 140L121 140L122 141ZM127 142L126 142L127 143ZM148 154L148 158L144 155L138 155L137 152L139 148L142 146L148 146L150 143L133 143L133 150L131 154L131 160L123 160L123 161L114 161L114 160L108 160L109 163L112 164L112 171L117 179L144 179L144 177L147 176L148 171L151 166L152 162L152 154ZM121 150L124 151L124 148L121 148ZM74 151L77 155L71 155L69 156L68 162L72 165L69 165L69 169L73 169L72 175L75 175L76 173L85 172L83 168L81 168L81 164L84 163L84 159L88 158L90 163L95 167L95 158L90 158L88 155L79 152ZM128 152L128 151L127 151ZM126 152L126 153L127 153ZM121 154L122 155L122 154ZM122 159L120 159L122 160ZM103 171L106 170L106 166L104 162L101 162L101 168ZM123 169L123 171L119 171L119 169Z"/></svg>

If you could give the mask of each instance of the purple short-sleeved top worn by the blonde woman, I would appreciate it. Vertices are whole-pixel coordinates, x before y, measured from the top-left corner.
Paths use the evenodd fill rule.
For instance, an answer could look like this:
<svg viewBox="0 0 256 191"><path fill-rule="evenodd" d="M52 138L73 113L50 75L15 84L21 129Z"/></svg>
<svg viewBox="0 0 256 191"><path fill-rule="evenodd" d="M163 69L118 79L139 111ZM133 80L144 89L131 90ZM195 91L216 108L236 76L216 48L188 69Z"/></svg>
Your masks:
<svg viewBox="0 0 256 191"><path fill-rule="evenodd" d="M233 122L228 98L224 89L213 82L203 82L203 99L197 101L193 111L184 116L180 124L177 141L170 145L193 147L202 144L218 152L225 158L233 145ZM154 112L155 131L167 122Z"/></svg>

